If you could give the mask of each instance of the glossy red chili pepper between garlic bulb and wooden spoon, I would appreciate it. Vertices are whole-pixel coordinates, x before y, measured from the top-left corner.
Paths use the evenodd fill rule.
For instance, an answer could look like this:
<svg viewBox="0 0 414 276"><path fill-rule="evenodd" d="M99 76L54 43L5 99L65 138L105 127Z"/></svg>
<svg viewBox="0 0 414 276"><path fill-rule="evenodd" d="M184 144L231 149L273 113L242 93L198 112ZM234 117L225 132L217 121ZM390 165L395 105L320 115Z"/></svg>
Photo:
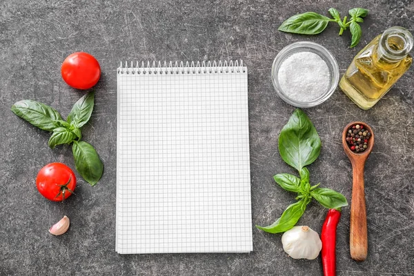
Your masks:
<svg viewBox="0 0 414 276"><path fill-rule="evenodd" d="M341 212L336 209L329 209L324 225L322 226L322 267L324 276L336 275L336 228Z"/></svg>

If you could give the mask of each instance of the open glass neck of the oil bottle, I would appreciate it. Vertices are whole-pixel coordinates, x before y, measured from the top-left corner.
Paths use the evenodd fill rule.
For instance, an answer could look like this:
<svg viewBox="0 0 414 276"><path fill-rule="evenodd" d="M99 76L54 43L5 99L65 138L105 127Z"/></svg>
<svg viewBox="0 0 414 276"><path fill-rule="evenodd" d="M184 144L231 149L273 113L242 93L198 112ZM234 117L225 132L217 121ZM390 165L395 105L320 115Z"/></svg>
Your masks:
<svg viewBox="0 0 414 276"><path fill-rule="evenodd" d="M413 48L411 32L402 27L387 29L380 37L376 50L378 63L397 64L404 59Z"/></svg>

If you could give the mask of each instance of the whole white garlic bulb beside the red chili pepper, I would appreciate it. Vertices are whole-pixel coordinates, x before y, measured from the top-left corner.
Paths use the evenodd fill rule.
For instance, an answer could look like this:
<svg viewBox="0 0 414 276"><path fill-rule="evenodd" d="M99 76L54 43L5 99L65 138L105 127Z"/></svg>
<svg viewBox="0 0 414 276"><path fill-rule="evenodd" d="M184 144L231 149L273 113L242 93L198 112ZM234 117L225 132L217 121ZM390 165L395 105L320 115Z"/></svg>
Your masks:
<svg viewBox="0 0 414 276"><path fill-rule="evenodd" d="M319 235L308 226L295 226L282 235L283 249L293 259L316 259L322 249Z"/></svg>

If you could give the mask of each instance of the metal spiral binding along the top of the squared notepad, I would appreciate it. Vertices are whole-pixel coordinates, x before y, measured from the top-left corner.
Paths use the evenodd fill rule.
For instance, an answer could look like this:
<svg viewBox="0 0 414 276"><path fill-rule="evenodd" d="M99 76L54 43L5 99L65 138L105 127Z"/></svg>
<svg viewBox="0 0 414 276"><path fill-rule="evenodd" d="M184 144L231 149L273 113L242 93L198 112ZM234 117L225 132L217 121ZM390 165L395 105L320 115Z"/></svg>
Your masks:
<svg viewBox="0 0 414 276"><path fill-rule="evenodd" d="M121 66L117 69L118 74L120 75L179 75L179 74L228 74L228 73L240 73L246 72L246 67L243 66L243 61L202 61L201 63L197 61L196 63L194 61L184 63L184 61L170 61L167 63L167 61L164 61L163 64L161 64L161 61L158 61L156 64L155 61L148 61L146 64L144 61L141 62L141 65L137 61L137 63L134 64L132 61L130 62L130 66L128 66L128 62L126 61L124 66L121 62Z"/></svg>

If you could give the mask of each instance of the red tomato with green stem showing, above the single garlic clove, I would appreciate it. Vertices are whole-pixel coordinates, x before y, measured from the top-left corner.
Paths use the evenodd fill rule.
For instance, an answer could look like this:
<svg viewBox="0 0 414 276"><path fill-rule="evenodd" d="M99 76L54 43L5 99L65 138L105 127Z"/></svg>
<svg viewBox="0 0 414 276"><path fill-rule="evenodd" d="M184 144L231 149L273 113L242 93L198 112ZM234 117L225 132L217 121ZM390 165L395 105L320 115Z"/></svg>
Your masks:
<svg viewBox="0 0 414 276"><path fill-rule="evenodd" d="M65 164L50 163L37 174L36 186L43 197L52 201L63 201L75 190L75 173Z"/></svg>

